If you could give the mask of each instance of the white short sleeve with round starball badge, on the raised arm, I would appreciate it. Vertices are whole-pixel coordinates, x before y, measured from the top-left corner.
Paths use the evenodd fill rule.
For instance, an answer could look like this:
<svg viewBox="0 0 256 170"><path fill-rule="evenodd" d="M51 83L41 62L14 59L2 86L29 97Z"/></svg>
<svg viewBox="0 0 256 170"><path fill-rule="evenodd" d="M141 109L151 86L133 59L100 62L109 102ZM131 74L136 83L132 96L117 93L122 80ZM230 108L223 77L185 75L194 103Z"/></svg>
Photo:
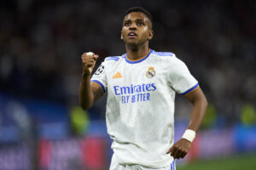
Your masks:
<svg viewBox="0 0 256 170"><path fill-rule="evenodd" d="M102 88L102 93L107 93L107 79L106 79L106 65L105 62L102 62L102 64L97 68L94 75L91 77L90 82L96 83L99 87Z"/></svg>

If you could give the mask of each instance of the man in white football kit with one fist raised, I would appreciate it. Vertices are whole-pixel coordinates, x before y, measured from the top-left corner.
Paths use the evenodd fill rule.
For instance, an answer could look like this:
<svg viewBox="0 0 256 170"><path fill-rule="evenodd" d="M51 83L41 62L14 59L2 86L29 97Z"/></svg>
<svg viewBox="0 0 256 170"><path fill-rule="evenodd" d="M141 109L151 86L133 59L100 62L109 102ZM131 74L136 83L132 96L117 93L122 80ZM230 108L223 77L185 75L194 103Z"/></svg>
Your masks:
<svg viewBox="0 0 256 170"><path fill-rule="evenodd" d="M174 170L174 159L188 153L207 108L207 99L186 65L175 54L148 48L154 34L152 24L151 14L144 8L128 9L121 31L126 54L106 58L91 78L98 55L82 55L80 105L89 109L108 93L112 170ZM183 138L173 144L176 92L189 99L193 109Z"/></svg>

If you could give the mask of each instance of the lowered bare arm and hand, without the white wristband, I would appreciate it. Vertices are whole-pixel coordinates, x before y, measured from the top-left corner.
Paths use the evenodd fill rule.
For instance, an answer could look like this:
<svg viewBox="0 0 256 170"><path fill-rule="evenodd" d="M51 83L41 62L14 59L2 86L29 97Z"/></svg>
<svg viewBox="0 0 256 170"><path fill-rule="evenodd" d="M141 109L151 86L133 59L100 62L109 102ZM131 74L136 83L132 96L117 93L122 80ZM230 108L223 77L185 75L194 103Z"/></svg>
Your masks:
<svg viewBox="0 0 256 170"><path fill-rule="evenodd" d="M192 94L186 95L185 98L189 99L193 105L188 129L191 129L196 133L201 126L201 122L207 111L207 99L201 88L196 89ZM183 158L189 152L190 147L191 142L189 140L179 139L177 143L172 145L166 154L171 153L171 156L173 156L174 159Z"/></svg>

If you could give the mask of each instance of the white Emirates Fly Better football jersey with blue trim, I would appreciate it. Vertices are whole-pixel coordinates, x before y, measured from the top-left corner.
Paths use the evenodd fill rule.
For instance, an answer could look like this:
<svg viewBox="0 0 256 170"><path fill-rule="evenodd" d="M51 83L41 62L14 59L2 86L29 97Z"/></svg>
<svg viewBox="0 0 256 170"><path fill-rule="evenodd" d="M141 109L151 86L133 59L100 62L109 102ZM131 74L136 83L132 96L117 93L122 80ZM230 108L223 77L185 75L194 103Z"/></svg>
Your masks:
<svg viewBox="0 0 256 170"><path fill-rule="evenodd" d="M108 57L91 82L108 93L106 121L119 163L160 168L170 166L166 154L174 141L175 93L199 87L175 54L155 52L138 60L127 54Z"/></svg>

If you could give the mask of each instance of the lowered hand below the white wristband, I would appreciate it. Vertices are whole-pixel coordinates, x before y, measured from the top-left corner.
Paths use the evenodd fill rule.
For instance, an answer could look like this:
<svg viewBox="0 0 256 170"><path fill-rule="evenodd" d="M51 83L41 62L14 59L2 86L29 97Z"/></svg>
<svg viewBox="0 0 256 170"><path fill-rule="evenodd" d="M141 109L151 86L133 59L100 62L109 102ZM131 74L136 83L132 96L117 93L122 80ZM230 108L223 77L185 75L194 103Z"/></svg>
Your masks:
<svg viewBox="0 0 256 170"><path fill-rule="evenodd" d="M177 143L173 144L172 147L166 152L170 154L174 159L184 158L191 148L191 142L187 139L179 139Z"/></svg>

